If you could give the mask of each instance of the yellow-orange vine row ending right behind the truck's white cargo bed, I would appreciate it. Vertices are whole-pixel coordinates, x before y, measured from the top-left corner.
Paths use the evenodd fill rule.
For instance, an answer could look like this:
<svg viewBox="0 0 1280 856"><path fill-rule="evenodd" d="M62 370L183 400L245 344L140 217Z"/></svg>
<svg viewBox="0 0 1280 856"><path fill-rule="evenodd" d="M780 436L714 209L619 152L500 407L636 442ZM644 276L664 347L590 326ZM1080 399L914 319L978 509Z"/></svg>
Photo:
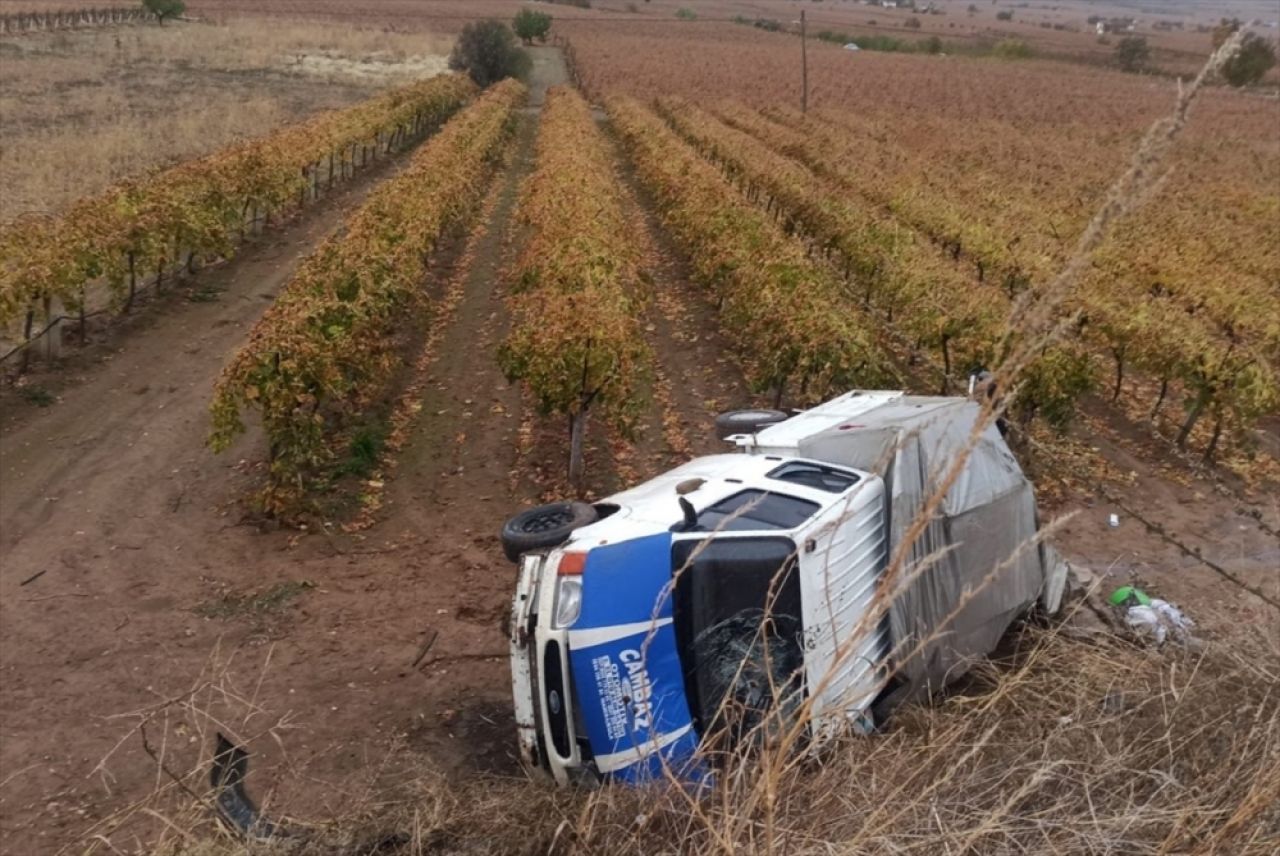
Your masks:
<svg viewBox="0 0 1280 856"><path fill-rule="evenodd" d="M608 100L614 128L696 276L721 306L751 385L804 399L892 383L873 325L845 287L634 100Z"/></svg>

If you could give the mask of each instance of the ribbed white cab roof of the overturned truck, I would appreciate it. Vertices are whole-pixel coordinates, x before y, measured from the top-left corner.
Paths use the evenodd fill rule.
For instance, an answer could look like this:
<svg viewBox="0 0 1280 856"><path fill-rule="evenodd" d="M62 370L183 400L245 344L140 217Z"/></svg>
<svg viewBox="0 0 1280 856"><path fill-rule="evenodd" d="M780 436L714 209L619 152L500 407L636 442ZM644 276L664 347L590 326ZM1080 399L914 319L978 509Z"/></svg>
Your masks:
<svg viewBox="0 0 1280 856"><path fill-rule="evenodd" d="M886 615L883 610L872 613L887 550L884 482L826 464L787 466L797 472L781 473L783 480L808 479L806 486L828 493L842 489L795 532L795 540L805 626L805 682L814 720L819 722L824 711L856 718L881 688L890 649ZM806 467L826 473L820 484L812 484L812 472L804 472Z"/></svg>

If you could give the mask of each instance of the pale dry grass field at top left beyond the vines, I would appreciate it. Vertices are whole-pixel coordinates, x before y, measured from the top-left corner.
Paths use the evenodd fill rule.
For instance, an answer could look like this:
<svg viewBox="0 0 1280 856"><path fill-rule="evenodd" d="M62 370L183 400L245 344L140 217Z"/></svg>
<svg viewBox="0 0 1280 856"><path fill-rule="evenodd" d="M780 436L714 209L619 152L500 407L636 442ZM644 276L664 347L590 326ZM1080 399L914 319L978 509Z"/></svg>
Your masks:
<svg viewBox="0 0 1280 856"><path fill-rule="evenodd" d="M233 22L0 40L0 221L444 69L448 40Z"/></svg>

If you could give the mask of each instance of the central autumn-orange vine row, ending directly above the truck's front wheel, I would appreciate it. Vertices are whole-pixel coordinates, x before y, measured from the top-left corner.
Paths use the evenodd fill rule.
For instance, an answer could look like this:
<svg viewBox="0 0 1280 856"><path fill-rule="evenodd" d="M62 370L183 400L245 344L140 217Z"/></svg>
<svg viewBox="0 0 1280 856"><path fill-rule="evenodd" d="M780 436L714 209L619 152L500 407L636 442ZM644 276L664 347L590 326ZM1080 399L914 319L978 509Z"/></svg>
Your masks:
<svg viewBox="0 0 1280 856"><path fill-rule="evenodd" d="M550 90L520 202L531 237L499 358L544 412L577 420L591 409L625 426L653 354L636 317L639 251L620 194L590 106L576 90Z"/></svg>

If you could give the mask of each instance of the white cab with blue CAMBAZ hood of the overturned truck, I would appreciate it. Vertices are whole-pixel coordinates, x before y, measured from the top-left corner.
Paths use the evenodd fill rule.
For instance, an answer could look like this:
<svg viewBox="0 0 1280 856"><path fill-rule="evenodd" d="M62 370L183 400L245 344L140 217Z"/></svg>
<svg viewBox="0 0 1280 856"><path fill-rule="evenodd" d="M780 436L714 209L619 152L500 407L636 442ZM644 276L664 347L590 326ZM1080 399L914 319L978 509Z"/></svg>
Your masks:
<svg viewBox="0 0 1280 856"><path fill-rule="evenodd" d="M731 435L736 453L612 495L594 522L518 557L512 687L530 766L561 783L643 781L662 764L698 778L704 738L801 704L814 732L867 724L890 649L872 610L884 482L795 452L873 400Z"/></svg>

